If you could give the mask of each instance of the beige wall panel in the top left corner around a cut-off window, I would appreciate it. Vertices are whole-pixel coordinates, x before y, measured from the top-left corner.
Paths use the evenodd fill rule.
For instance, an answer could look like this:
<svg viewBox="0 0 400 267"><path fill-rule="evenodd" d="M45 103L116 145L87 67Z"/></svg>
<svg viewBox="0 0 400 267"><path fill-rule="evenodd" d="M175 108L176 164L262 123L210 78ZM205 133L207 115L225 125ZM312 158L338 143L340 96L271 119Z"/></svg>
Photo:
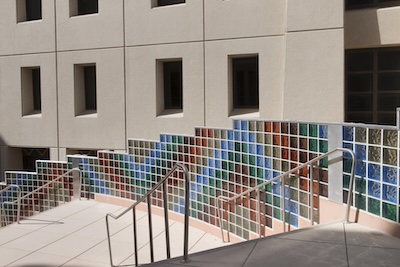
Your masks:
<svg viewBox="0 0 400 267"><path fill-rule="evenodd" d="M55 51L54 1L44 2L43 19L17 23L16 1L1 1L0 55Z"/></svg>

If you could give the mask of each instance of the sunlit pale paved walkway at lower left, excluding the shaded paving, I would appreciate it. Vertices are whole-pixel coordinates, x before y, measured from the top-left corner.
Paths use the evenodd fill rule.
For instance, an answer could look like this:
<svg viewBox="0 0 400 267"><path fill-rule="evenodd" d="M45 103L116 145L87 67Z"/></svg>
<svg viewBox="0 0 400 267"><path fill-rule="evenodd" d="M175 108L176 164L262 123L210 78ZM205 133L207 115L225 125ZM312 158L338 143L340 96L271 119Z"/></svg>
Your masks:
<svg viewBox="0 0 400 267"><path fill-rule="evenodd" d="M105 215L124 208L95 201L73 201L20 224L0 228L0 266L110 266ZM147 215L137 211L139 263L149 263ZM133 265L132 213L110 220L114 264ZM153 216L155 260L166 258L164 220ZM183 254L183 224L170 221L171 257ZM219 237L190 227L189 253L223 246Z"/></svg>

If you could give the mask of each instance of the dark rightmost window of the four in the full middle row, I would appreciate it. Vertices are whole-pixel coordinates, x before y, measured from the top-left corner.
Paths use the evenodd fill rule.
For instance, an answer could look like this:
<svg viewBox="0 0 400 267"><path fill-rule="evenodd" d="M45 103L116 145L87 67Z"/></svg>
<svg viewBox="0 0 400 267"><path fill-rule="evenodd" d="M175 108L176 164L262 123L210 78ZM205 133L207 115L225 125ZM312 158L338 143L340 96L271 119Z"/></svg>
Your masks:
<svg viewBox="0 0 400 267"><path fill-rule="evenodd" d="M232 58L233 108L258 108L258 56Z"/></svg>

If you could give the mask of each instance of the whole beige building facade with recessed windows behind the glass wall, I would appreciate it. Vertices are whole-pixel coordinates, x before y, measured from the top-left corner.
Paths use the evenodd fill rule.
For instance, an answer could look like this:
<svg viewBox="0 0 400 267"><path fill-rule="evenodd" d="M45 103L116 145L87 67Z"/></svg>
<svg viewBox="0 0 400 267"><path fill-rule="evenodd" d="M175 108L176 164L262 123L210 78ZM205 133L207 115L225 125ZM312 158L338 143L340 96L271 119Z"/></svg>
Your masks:
<svg viewBox="0 0 400 267"><path fill-rule="evenodd" d="M1 173L234 119L395 124L400 1L4 0Z"/></svg>

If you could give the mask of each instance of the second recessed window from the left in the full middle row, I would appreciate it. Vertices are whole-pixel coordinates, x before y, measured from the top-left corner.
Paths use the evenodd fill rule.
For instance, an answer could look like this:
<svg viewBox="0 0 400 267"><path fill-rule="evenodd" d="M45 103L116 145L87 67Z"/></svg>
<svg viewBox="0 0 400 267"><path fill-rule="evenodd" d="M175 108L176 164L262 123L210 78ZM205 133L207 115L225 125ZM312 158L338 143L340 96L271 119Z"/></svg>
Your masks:
<svg viewBox="0 0 400 267"><path fill-rule="evenodd" d="M75 65L75 115L97 112L96 65Z"/></svg>

